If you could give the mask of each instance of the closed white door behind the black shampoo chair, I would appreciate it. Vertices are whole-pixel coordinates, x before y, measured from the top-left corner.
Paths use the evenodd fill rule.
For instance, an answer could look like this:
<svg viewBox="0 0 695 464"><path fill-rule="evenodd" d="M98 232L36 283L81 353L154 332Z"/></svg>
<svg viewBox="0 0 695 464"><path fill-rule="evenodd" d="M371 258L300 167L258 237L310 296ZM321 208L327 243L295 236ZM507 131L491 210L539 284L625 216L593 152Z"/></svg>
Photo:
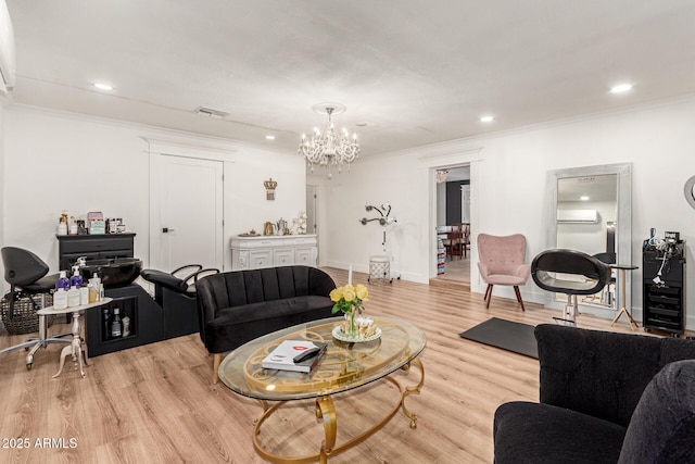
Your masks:
<svg viewBox="0 0 695 464"><path fill-rule="evenodd" d="M223 163L162 155L160 162L160 263L162 271L187 264L222 271Z"/></svg>

